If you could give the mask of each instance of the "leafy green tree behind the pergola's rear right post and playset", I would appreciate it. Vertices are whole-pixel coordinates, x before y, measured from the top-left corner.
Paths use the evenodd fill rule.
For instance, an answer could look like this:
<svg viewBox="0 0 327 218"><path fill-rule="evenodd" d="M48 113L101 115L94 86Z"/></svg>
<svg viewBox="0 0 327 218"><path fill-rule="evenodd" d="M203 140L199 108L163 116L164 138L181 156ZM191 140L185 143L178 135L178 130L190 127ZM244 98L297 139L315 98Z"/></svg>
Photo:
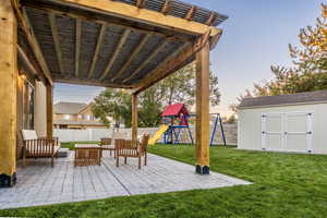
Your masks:
<svg viewBox="0 0 327 218"><path fill-rule="evenodd" d="M210 102L216 106L220 101L218 77L210 72ZM157 126L160 113L167 105L184 102L194 104L195 97L195 64L191 63L174 74L166 77L155 86L138 96L138 125ZM131 96L122 89L107 88L97 96L93 104L93 112L107 126L109 117L122 120L126 128L131 126Z"/></svg>

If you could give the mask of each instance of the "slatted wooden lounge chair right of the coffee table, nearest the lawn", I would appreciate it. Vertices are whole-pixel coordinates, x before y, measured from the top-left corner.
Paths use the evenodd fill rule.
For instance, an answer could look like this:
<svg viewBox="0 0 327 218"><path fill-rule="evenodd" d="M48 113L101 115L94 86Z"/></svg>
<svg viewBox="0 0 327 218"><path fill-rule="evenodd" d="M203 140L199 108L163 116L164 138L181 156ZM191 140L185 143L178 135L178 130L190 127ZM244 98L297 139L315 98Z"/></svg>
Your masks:
<svg viewBox="0 0 327 218"><path fill-rule="evenodd" d="M141 158L144 156L144 165L147 165L147 144L149 135L143 135L141 143L128 140L117 140L117 167L119 167L119 157L124 157L124 162L128 164L128 157L138 158L138 169L141 169Z"/></svg>

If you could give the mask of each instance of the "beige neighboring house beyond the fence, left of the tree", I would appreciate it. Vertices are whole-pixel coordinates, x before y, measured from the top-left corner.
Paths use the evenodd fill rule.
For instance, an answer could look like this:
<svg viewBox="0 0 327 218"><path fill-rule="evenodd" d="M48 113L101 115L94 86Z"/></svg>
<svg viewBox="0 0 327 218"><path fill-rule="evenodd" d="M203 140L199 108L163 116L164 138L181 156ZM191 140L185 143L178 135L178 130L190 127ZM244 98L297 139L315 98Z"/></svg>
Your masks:
<svg viewBox="0 0 327 218"><path fill-rule="evenodd" d="M58 102L53 106L55 129L104 129L106 125L96 119L92 104Z"/></svg>

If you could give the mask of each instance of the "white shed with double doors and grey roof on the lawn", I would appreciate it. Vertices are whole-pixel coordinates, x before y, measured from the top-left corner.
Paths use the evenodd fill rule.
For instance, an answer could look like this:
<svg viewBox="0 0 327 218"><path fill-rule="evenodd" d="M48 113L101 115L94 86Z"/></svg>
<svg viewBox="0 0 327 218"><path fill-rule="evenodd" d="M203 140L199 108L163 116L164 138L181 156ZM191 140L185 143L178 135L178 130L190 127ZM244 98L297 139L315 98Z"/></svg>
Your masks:
<svg viewBox="0 0 327 218"><path fill-rule="evenodd" d="M238 148L327 154L327 90L245 98Z"/></svg>

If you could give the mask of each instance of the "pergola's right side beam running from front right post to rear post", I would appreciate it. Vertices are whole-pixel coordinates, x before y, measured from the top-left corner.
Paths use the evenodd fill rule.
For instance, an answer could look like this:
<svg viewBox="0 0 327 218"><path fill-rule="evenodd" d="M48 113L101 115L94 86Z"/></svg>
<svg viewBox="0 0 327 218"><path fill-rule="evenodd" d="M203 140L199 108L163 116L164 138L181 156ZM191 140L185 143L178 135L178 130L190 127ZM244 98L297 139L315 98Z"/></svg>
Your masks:
<svg viewBox="0 0 327 218"><path fill-rule="evenodd" d="M153 70L145 78L143 78L142 82L136 85L136 90L134 93L138 94L173 73L181 64L192 58L208 43L209 36L210 33L208 32L199 37L194 45L189 46L187 44L184 44L180 47L180 49L168 57L157 69Z"/></svg>

